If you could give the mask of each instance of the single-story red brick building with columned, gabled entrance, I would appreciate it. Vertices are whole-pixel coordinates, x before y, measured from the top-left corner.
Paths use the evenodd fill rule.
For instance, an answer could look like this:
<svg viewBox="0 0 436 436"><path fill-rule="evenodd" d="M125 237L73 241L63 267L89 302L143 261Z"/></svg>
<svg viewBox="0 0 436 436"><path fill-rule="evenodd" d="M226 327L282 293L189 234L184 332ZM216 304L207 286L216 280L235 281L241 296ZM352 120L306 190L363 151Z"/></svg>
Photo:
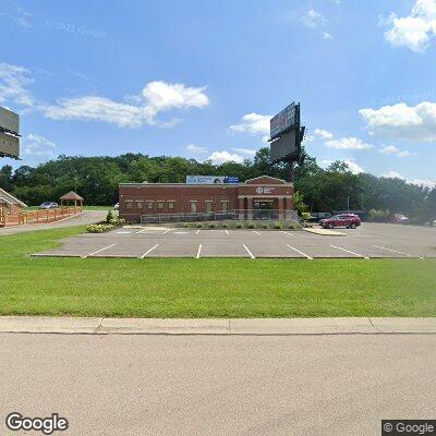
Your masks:
<svg viewBox="0 0 436 436"><path fill-rule="evenodd" d="M227 214L255 219L274 210L283 219L293 210L293 184L262 175L237 184L120 183L120 217L138 222L158 214Z"/></svg>

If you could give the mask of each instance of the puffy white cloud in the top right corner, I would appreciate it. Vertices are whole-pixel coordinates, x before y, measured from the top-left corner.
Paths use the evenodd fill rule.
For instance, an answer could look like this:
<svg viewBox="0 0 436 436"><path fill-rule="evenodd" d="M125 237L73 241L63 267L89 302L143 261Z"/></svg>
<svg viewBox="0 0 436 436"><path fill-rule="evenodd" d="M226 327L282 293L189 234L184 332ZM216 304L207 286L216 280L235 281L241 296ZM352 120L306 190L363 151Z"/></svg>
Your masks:
<svg viewBox="0 0 436 436"><path fill-rule="evenodd" d="M398 17L391 13L387 23L391 25L385 33L388 43L424 51L436 35L436 0L416 0L410 15Z"/></svg>

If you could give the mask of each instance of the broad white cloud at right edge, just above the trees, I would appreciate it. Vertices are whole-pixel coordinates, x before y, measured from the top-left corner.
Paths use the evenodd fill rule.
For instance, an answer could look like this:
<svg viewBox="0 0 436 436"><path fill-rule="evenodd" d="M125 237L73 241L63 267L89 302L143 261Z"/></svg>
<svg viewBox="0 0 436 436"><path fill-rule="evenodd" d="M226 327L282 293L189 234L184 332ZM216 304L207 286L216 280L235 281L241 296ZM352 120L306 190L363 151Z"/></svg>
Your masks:
<svg viewBox="0 0 436 436"><path fill-rule="evenodd" d="M436 140L436 104L420 102L408 106L400 102L379 109L361 109L370 133L383 137L410 141Z"/></svg>

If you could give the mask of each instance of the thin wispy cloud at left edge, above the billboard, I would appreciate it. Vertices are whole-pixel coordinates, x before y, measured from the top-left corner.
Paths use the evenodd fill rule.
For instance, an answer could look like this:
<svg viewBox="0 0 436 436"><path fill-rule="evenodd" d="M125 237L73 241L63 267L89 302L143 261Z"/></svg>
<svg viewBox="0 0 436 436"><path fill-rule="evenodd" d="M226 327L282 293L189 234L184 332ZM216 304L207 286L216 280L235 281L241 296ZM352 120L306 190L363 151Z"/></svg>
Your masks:
<svg viewBox="0 0 436 436"><path fill-rule="evenodd" d="M31 72L23 66L0 63L0 104L13 101L17 105L32 107L35 102L26 89L33 82Z"/></svg>

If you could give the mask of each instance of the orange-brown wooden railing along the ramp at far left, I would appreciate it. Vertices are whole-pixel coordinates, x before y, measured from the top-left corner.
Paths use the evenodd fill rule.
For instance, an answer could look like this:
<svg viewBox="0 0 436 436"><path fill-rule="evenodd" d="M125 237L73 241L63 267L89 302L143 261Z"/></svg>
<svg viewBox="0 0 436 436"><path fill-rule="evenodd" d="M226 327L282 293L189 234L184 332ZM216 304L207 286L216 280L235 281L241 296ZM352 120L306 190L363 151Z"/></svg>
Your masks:
<svg viewBox="0 0 436 436"><path fill-rule="evenodd" d="M80 206L0 215L0 227L55 222L82 213Z"/></svg>

